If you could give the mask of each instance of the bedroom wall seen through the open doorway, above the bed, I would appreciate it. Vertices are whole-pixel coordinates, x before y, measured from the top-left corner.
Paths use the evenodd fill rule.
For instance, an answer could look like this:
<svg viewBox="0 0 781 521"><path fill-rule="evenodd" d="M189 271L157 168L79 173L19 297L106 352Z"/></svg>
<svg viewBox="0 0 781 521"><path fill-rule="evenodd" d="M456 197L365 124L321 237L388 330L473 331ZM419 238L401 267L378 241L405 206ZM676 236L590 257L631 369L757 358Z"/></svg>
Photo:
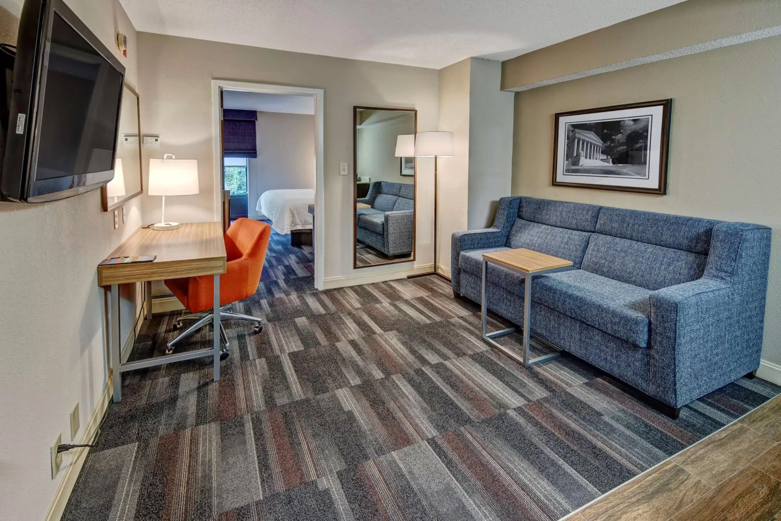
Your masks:
<svg viewBox="0 0 781 521"><path fill-rule="evenodd" d="M258 157L249 159L250 216L266 190L315 187L315 116L258 112Z"/></svg>

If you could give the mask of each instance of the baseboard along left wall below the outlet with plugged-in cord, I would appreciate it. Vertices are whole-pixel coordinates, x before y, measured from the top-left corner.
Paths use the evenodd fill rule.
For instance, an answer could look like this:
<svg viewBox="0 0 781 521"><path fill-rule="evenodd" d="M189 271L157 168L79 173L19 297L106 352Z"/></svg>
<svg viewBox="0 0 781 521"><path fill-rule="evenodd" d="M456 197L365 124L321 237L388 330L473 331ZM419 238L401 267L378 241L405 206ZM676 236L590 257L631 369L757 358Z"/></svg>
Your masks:
<svg viewBox="0 0 781 521"><path fill-rule="evenodd" d="M134 337L134 335L130 335ZM112 398L113 379L109 374L109 381L106 382L103 391L98 396L98 404L95 405L95 409L90 415L90 419L87 420L87 424L84 425L84 429L81 431L81 437L77 441L72 441L74 444L91 444L95 441L95 437L98 434L98 427L100 426L105 410L109 407L109 401ZM81 472L81 467L84 466L84 460L87 459L87 452L89 448L74 448L72 451L68 451L63 459L64 474L62 479L59 480L59 486L52 498L52 504L49 505L46 511L44 521L59 521L62 517L62 512L65 512L65 505L68 503L70 493L73 492L73 486L76 485L76 479ZM70 461L67 460L70 455Z"/></svg>

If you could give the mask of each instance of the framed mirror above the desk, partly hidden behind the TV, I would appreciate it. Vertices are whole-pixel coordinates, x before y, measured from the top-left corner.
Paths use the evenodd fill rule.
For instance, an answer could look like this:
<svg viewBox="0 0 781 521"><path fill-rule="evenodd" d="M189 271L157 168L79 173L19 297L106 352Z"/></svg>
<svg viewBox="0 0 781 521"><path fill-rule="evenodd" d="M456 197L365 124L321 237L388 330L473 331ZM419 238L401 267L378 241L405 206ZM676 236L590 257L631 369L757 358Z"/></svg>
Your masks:
<svg viewBox="0 0 781 521"><path fill-rule="evenodd" d="M125 84L114 160L114 179L101 188L103 211L111 212L143 192L141 167L141 102ZM127 137L127 139L126 139ZM134 139L135 137L135 139Z"/></svg>

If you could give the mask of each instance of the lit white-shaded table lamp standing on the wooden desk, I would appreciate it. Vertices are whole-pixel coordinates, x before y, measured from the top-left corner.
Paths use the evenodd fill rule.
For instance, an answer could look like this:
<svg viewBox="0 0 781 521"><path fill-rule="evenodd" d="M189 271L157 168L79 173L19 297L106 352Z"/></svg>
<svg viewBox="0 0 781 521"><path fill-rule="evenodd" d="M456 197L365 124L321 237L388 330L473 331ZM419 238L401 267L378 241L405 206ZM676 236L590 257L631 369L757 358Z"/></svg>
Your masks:
<svg viewBox="0 0 781 521"><path fill-rule="evenodd" d="M177 159L173 154L149 159L148 194L162 195L162 215L152 230L176 230L179 223L166 223L166 195L198 194L198 160Z"/></svg>

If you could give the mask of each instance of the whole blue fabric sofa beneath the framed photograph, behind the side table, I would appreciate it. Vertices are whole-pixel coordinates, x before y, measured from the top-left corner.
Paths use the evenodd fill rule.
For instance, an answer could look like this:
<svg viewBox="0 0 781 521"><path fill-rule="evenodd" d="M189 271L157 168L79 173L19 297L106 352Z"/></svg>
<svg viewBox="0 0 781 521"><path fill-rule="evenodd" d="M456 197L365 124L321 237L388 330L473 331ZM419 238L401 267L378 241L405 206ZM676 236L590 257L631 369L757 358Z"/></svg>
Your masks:
<svg viewBox="0 0 781 521"><path fill-rule="evenodd" d="M531 332L679 408L759 366L768 227L511 197L494 226L452 237L453 290L481 295L481 255L530 248L573 262L535 277ZM523 321L523 278L489 266L487 305Z"/></svg>

